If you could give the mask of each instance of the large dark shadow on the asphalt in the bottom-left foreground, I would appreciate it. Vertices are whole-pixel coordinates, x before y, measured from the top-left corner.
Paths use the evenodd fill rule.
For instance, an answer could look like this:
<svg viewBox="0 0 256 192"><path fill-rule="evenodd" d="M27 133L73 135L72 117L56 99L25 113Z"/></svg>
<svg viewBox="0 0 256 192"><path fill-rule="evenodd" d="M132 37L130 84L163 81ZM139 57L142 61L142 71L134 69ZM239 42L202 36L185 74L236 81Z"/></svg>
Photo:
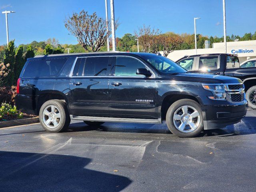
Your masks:
<svg viewBox="0 0 256 192"><path fill-rule="evenodd" d="M118 173L85 168L90 162L77 156L0 151L0 191L118 192L132 182Z"/></svg>

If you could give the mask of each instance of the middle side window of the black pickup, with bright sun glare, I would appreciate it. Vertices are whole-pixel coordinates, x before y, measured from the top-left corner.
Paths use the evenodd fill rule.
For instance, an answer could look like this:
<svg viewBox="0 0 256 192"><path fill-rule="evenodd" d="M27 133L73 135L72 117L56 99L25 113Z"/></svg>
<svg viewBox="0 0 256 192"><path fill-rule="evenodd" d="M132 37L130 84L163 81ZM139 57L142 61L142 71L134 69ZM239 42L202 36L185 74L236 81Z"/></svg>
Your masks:
<svg viewBox="0 0 256 192"><path fill-rule="evenodd" d="M218 69L218 56L205 56L199 59L199 70Z"/></svg>

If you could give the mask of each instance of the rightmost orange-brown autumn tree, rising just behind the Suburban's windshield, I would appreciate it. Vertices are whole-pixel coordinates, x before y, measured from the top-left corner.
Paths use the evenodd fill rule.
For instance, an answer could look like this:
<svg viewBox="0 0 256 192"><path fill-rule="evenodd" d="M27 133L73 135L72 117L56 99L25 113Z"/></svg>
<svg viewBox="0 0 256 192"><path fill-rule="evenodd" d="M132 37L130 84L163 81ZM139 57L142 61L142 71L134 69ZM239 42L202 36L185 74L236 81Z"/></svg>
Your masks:
<svg viewBox="0 0 256 192"><path fill-rule="evenodd" d="M177 46L182 44L182 38L172 32L159 35L160 44L163 46L164 56L167 57Z"/></svg>

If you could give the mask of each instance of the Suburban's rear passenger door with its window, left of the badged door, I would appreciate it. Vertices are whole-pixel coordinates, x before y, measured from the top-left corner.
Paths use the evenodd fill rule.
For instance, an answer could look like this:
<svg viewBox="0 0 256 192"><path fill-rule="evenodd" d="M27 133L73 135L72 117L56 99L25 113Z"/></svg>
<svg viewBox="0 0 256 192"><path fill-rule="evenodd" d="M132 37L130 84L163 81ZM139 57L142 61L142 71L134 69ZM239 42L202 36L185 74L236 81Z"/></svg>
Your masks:
<svg viewBox="0 0 256 192"><path fill-rule="evenodd" d="M76 116L108 116L108 56L77 58L70 83L70 107Z"/></svg>

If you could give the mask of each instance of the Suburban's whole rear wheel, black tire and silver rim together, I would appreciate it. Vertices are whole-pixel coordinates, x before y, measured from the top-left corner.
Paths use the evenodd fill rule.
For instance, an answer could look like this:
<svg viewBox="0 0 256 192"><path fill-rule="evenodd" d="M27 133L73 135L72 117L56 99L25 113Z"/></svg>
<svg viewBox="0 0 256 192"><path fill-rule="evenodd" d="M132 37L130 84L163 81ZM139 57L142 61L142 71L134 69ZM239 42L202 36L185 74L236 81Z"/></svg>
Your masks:
<svg viewBox="0 0 256 192"><path fill-rule="evenodd" d="M66 103L61 100L46 101L39 112L42 127L48 132L61 132L68 128L70 116Z"/></svg>

